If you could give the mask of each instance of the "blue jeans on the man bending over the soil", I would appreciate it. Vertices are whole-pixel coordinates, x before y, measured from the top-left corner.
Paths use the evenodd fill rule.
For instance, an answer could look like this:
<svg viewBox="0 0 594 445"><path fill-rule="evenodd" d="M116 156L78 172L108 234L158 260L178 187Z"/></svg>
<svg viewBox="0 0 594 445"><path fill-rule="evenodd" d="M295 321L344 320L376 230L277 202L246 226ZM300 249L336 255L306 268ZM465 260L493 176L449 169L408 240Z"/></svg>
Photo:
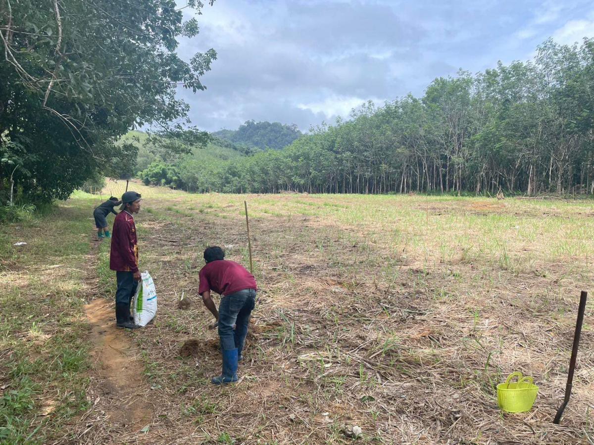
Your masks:
<svg viewBox="0 0 594 445"><path fill-rule="evenodd" d="M244 289L225 295L219 305L219 337L221 349L238 349L241 355L245 336L248 335L249 316L255 307L256 291ZM233 330L235 325L235 330Z"/></svg>

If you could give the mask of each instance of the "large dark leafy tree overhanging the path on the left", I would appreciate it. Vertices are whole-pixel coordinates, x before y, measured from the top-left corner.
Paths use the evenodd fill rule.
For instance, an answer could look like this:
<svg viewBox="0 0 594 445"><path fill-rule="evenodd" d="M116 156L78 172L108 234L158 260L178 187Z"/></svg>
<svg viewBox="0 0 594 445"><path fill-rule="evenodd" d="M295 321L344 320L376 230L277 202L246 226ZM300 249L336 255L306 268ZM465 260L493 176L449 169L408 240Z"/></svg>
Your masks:
<svg viewBox="0 0 594 445"><path fill-rule="evenodd" d="M216 59L179 58L177 39L197 34L173 0L0 0L0 150L20 151L23 195L65 198L98 169L129 170L135 148L115 141L130 128L181 131L176 87L203 90Z"/></svg>

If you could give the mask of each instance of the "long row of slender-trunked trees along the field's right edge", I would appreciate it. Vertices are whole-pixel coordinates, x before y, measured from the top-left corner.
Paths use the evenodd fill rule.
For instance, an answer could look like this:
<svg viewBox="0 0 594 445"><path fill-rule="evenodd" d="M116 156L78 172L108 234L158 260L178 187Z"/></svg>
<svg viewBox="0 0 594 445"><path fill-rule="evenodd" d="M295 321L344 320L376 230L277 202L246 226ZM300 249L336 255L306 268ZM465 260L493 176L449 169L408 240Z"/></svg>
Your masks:
<svg viewBox="0 0 594 445"><path fill-rule="evenodd" d="M548 40L533 61L437 78L421 98L179 178L222 192L592 193L593 124L594 41Z"/></svg>

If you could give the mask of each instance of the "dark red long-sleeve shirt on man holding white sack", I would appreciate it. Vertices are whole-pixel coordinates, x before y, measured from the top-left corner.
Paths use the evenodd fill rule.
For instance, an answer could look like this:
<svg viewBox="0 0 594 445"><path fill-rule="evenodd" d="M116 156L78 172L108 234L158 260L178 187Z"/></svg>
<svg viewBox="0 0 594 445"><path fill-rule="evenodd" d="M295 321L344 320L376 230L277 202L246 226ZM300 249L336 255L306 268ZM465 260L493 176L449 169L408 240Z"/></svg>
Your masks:
<svg viewBox="0 0 594 445"><path fill-rule="evenodd" d="M119 272L138 272L138 245L134 217L119 212L113 221L109 268Z"/></svg>

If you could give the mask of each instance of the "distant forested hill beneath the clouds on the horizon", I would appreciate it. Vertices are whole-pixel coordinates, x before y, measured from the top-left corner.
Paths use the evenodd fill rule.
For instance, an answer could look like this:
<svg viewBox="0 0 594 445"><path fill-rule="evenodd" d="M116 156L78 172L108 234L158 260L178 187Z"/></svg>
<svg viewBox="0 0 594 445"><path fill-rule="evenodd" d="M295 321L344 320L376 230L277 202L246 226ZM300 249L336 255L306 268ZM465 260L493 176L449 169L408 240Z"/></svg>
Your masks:
<svg viewBox="0 0 594 445"><path fill-rule="evenodd" d="M274 150L280 150L299 139L302 133L295 124L284 125L279 122L248 120L235 131L222 129L212 133L212 135L233 142L239 148L249 147L260 148L261 150L273 148Z"/></svg>

